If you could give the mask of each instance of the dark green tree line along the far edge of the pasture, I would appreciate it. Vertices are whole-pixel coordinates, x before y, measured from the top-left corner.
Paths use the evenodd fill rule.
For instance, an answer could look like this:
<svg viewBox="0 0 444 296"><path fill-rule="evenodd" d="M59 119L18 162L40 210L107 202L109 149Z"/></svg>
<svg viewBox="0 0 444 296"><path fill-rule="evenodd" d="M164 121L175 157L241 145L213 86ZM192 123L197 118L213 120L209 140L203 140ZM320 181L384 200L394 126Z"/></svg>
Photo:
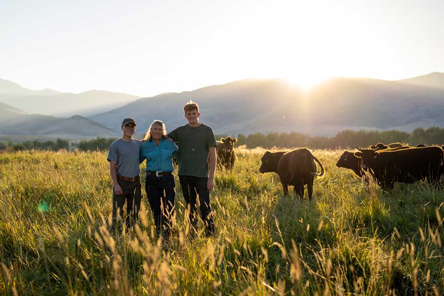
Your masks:
<svg viewBox="0 0 444 296"><path fill-rule="evenodd" d="M217 135L216 139L220 139L223 135ZM57 139L57 141L26 141L21 144L7 142L0 142L0 150L51 150L57 151L60 149L80 151L91 150L108 150L111 143L116 139L100 138L86 141L82 140L79 143L69 143L67 140ZM314 149L334 149L346 147L368 147L378 142L385 144L401 142L408 143L411 146L417 144L444 144L444 128L430 127L423 129L418 127L411 133L400 132L396 130L391 131L367 131L367 130L344 130L337 133L334 137L309 136L302 133L256 133L248 136L238 135L236 146L245 145L247 148L291 148L291 147L307 147Z"/></svg>

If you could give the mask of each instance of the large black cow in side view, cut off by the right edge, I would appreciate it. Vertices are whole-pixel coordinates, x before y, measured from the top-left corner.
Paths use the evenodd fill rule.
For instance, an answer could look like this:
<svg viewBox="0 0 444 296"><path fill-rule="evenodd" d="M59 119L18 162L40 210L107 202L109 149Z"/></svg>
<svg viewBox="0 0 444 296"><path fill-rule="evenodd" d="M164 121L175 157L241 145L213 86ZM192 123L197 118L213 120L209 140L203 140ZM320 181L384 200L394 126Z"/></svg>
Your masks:
<svg viewBox="0 0 444 296"><path fill-rule="evenodd" d="M414 183L419 180L437 185L444 172L444 152L439 147L408 148L395 151L359 149L362 168L373 172L383 190L392 189L394 182Z"/></svg>

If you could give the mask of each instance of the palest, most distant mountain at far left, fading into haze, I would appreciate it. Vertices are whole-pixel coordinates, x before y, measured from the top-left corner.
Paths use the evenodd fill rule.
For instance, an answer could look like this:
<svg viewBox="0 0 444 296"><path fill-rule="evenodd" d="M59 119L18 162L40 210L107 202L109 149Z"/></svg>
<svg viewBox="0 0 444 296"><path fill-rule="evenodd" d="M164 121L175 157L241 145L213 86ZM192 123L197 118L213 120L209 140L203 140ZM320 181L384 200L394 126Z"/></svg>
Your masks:
<svg viewBox="0 0 444 296"><path fill-rule="evenodd" d="M0 102L27 113L69 117L109 111L139 99L137 96L91 90L79 94L61 93L51 89L30 90L17 83L0 79Z"/></svg>

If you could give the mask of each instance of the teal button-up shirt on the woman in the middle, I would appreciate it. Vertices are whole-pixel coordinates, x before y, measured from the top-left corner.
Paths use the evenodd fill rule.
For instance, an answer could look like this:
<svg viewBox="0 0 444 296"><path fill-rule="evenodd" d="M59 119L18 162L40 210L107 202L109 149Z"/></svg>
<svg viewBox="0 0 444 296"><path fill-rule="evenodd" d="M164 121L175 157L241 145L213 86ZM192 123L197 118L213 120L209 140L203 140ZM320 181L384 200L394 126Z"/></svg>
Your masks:
<svg viewBox="0 0 444 296"><path fill-rule="evenodd" d="M177 157L178 150L173 141L162 138L157 146L151 139L140 147L139 162L147 160L146 172L172 172L173 156Z"/></svg>

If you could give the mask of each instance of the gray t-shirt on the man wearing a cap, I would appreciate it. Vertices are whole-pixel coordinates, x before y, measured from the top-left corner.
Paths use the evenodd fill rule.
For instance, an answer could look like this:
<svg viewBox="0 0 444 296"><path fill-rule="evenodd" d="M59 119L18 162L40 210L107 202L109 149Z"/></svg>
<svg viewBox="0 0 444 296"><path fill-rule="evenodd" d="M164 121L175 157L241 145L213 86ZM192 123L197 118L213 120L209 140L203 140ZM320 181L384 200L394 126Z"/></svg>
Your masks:
<svg viewBox="0 0 444 296"><path fill-rule="evenodd" d="M139 150L142 142L132 139L131 142L118 139L112 142L108 152L108 161L117 162L117 175L124 177L139 176Z"/></svg>

